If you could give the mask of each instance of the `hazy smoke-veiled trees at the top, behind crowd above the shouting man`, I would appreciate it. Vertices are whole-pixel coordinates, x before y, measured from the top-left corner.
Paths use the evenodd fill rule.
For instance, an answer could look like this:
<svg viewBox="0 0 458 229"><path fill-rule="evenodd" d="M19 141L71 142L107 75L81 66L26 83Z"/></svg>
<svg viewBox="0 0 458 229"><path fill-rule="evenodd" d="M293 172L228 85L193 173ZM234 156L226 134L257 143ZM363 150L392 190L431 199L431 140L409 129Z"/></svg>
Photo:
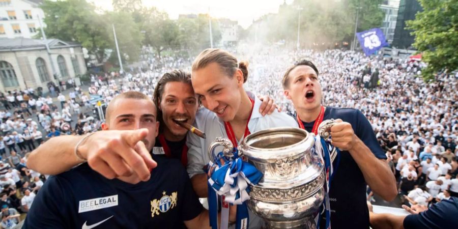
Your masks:
<svg viewBox="0 0 458 229"><path fill-rule="evenodd" d="M301 46L313 43L333 46L340 41L351 41L359 10L358 32L379 27L384 14L379 8L382 0L295 0L280 6L278 14L268 14L250 26L248 39L277 42L285 40L296 44L300 13ZM256 35L254 35L256 33Z"/></svg>

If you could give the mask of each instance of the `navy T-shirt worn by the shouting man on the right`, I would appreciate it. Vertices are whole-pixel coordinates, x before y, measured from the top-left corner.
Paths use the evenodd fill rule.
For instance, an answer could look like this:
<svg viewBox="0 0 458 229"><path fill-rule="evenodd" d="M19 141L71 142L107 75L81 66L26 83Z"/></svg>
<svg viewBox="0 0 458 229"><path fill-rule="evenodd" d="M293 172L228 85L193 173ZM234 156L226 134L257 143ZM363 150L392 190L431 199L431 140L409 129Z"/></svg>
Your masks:
<svg viewBox="0 0 458 229"><path fill-rule="evenodd" d="M357 109L326 107L323 120L341 119L352 125L353 131L379 159L386 159L374 130L366 117ZM305 123L311 132L314 122ZM333 163L334 178L329 190L331 228L369 228L369 211L366 203L366 182L358 164L348 151L340 152L340 163ZM324 228L326 220L321 220Z"/></svg>

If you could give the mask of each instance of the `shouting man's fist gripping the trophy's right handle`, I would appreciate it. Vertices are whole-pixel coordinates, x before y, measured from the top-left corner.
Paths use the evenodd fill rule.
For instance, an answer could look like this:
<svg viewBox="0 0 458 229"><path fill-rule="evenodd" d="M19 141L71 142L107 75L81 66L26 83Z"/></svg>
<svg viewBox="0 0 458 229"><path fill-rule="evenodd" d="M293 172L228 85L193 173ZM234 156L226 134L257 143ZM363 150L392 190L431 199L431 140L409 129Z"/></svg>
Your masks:
<svg viewBox="0 0 458 229"><path fill-rule="evenodd" d="M350 151L355 145L358 137L353 131L352 125L336 119L331 127L331 144L340 150Z"/></svg>

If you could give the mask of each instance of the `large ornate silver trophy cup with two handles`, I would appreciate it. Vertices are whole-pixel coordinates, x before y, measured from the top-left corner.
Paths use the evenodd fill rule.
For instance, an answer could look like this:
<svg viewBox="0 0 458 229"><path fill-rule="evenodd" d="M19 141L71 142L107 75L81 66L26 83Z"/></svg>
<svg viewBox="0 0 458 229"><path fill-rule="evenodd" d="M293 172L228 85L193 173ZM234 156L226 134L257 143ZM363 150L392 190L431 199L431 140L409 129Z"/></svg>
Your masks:
<svg viewBox="0 0 458 229"><path fill-rule="evenodd" d="M318 133L325 140L334 120L324 121ZM239 146L239 155L263 173L251 186L248 207L264 218L270 228L316 228L314 216L323 203L326 182L324 160L314 151L313 133L299 128L270 128L248 135ZM209 148L232 156L230 140L218 138ZM218 151L220 152L220 151ZM335 149L331 160L335 158Z"/></svg>

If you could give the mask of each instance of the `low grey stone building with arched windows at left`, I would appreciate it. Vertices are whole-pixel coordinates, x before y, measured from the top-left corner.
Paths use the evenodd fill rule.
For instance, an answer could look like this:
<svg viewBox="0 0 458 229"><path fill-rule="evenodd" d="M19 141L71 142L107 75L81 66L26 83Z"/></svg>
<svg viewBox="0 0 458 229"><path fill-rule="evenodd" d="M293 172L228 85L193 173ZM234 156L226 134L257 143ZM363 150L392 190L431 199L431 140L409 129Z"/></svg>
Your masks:
<svg viewBox="0 0 458 229"><path fill-rule="evenodd" d="M74 42L0 38L0 91L42 87L86 73L82 47ZM79 80L77 80L79 81Z"/></svg>

